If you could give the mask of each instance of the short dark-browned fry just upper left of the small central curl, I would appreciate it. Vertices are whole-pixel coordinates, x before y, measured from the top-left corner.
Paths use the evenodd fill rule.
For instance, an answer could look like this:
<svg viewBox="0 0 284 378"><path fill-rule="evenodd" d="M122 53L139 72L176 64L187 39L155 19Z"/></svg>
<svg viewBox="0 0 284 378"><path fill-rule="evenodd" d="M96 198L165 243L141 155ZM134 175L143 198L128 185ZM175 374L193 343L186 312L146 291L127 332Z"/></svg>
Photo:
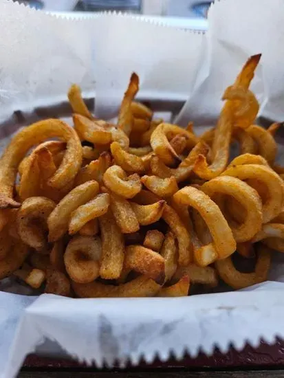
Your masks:
<svg viewBox="0 0 284 378"><path fill-rule="evenodd" d="M102 182L102 177L105 171L111 165L111 155L107 152L101 153L97 160L93 160L83 168L80 168L75 179L76 186L84 184L90 180L96 180L98 183Z"/></svg>

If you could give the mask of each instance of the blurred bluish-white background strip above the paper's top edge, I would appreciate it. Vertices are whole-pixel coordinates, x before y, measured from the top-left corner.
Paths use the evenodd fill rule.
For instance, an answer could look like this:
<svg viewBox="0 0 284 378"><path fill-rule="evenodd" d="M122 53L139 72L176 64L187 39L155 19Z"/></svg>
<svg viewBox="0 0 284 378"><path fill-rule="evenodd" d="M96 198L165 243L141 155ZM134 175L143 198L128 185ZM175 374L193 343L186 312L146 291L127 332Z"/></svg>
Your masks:
<svg viewBox="0 0 284 378"><path fill-rule="evenodd" d="M211 0L25 0L19 1L47 12L81 16L103 11L128 12L170 25L206 30Z"/></svg>

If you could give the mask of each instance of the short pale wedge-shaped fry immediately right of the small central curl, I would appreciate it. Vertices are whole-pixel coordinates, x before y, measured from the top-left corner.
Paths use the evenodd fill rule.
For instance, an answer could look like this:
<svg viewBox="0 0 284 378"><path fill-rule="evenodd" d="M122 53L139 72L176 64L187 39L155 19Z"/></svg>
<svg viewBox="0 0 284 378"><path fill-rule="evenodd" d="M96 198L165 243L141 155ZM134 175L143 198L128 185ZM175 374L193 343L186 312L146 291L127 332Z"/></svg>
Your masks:
<svg viewBox="0 0 284 378"><path fill-rule="evenodd" d="M147 189L161 198L171 197L179 190L174 176L166 179L157 176L143 176L141 182Z"/></svg>

